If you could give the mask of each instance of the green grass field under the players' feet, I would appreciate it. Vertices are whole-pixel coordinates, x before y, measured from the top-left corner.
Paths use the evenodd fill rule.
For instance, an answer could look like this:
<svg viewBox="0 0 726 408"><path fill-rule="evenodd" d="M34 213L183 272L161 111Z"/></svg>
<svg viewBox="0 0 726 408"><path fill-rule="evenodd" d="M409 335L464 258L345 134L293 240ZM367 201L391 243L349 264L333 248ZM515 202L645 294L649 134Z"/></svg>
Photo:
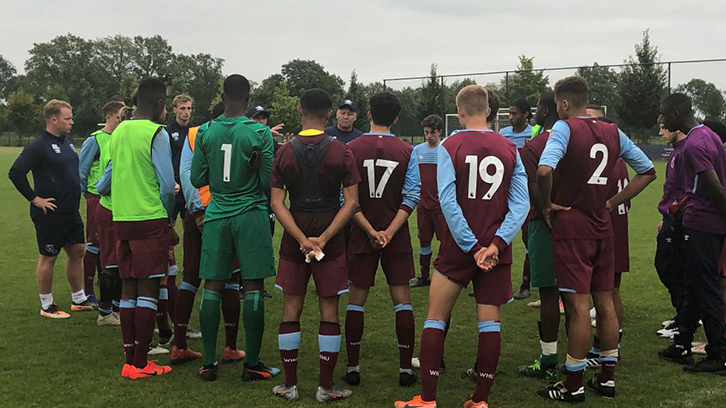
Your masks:
<svg viewBox="0 0 726 408"><path fill-rule="evenodd" d="M175 367L170 375L148 381L121 378L123 364L121 336L116 327L97 327L95 313L73 314L71 319L54 321L38 316L39 301L34 278L37 246L28 216L28 204L18 194L5 174L19 154L17 148L0 148L0 406L7 407L313 407L318 375L317 322L315 297L309 297L302 318L303 341L300 352L299 379L301 400L286 403L273 397L270 390L278 381L243 383L241 365L223 366L219 379L203 383L196 376L199 364ZM726 377L684 374L679 366L658 359L656 352L667 341L656 337L660 322L671 317L666 290L652 267L655 250L655 210L663 182L661 178L633 203L630 213L630 248L632 273L623 279L625 335L623 362L618 366L618 396L612 401L587 395L583 407L723 407L726 401ZM84 210L85 211L85 210ZM415 215L414 215L415 216ZM415 221L411 228L415 230ZM275 236L279 244L280 228ZM412 231L412 236L416 236ZM523 246L515 241L513 266L515 288L521 280ZM418 244L414 242L414 252ZM178 250L181 263L181 247ZM417 257L416 257L417 258ZM63 273L64 256L58 260L54 295L56 303L69 309L70 293ZM179 280L178 280L179 282ZM367 306L366 332L363 338L362 384L353 388L353 397L339 403L341 407L392 407L396 399L418 394L418 385L398 386L398 361L393 305L382 276L371 293ZM267 328L262 359L279 366L277 326L280 321L281 295L267 283L274 297L267 301ZM312 286L309 288L311 289ZM515 289L516 290L516 289ZM469 379L460 372L471 366L476 354L476 317L472 298L462 292L453 313L447 341L448 372L439 381L439 407L460 407L473 390ZM199 297L198 297L199 298ZM536 293L527 301L536 299ZM347 297L341 298L344 316ZM535 391L545 384L525 379L517 367L539 354L536 321L537 309L526 307L527 301L504 306L502 310L503 347L499 370L491 396L492 407L549 407ZM425 318L427 291L413 292L417 344ZM192 324L198 327L198 313ZM240 341L244 331L240 330ZM220 347L223 341L220 333ZM697 337L703 337L702 332ZM564 339L564 335L560 336ZM241 343L244 346L244 343ZM190 346L200 350L199 340ZM560 361L564 360L564 342ZM221 348L220 348L221 350ZM162 362L168 361L163 357ZM336 381L345 366L344 348L336 370ZM589 378L592 372L586 374Z"/></svg>

